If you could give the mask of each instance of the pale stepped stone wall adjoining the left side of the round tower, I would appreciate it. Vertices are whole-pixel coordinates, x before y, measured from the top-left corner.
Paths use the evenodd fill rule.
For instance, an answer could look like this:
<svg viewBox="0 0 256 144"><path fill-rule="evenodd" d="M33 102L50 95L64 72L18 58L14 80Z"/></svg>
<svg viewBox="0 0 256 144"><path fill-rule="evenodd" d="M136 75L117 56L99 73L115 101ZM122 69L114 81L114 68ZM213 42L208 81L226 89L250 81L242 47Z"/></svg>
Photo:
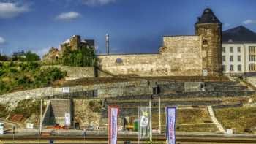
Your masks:
<svg viewBox="0 0 256 144"><path fill-rule="evenodd" d="M164 37L159 54L98 56L99 67L115 75L200 76L199 36Z"/></svg>

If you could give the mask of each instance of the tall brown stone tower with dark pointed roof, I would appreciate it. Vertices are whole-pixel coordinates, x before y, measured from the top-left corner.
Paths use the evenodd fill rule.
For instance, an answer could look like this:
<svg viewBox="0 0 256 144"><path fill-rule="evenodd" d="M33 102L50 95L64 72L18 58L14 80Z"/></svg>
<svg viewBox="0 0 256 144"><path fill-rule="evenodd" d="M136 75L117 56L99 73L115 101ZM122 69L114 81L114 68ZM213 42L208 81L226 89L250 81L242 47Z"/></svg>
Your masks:
<svg viewBox="0 0 256 144"><path fill-rule="evenodd" d="M203 39L203 75L222 75L222 23L211 9L198 18L195 34Z"/></svg>

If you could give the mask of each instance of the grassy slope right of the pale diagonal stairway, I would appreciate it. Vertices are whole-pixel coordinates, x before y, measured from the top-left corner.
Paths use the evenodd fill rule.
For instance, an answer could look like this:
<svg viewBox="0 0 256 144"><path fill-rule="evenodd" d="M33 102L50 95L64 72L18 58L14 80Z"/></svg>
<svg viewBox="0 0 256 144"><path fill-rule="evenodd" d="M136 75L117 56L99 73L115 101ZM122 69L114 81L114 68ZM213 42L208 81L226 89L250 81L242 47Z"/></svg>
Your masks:
<svg viewBox="0 0 256 144"><path fill-rule="evenodd" d="M234 129L237 133L243 133L244 129L255 129L256 107L236 107L216 110L219 122L225 128Z"/></svg>

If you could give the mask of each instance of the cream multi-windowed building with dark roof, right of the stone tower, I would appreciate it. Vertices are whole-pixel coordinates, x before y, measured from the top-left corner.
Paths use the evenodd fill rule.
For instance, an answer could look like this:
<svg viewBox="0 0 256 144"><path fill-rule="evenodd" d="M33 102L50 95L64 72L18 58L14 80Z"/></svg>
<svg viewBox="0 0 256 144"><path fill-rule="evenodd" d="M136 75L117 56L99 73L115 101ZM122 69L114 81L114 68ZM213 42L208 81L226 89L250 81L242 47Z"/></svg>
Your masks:
<svg viewBox="0 0 256 144"><path fill-rule="evenodd" d="M255 75L256 34L244 26L223 31L222 70L225 75Z"/></svg>

